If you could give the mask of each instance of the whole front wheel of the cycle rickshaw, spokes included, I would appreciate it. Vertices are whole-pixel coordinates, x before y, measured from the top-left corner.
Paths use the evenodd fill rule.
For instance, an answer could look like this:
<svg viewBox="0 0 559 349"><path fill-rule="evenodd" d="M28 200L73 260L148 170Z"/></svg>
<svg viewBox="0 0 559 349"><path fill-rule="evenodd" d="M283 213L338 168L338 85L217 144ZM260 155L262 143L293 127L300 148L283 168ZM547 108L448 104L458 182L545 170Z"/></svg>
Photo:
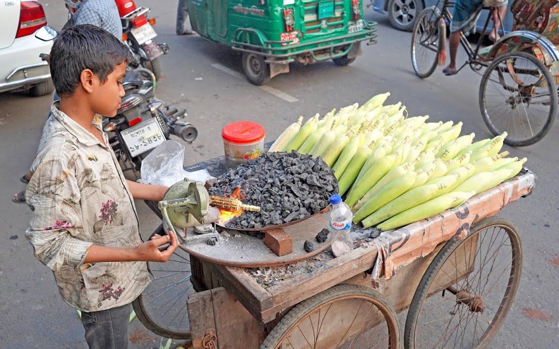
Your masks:
<svg viewBox="0 0 559 349"><path fill-rule="evenodd" d="M421 79L429 77L437 68L437 56L442 40L439 37L437 7L425 8L419 14L411 35L411 65Z"/></svg>

